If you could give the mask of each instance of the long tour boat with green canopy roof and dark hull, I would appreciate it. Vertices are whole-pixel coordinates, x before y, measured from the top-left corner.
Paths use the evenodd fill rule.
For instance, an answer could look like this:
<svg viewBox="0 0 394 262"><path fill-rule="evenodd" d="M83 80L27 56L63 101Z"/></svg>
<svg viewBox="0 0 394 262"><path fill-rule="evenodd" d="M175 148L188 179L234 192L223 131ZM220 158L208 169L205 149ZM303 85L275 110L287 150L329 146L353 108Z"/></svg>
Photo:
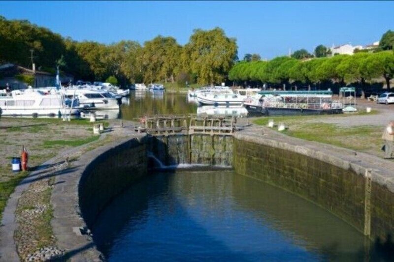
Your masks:
<svg viewBox="0 0 394 262"><path fill-rule="evenodd" d="M332 91L261 91L259 97L245 100L252 115L341 114L343 105L332 100Z"/></svg>

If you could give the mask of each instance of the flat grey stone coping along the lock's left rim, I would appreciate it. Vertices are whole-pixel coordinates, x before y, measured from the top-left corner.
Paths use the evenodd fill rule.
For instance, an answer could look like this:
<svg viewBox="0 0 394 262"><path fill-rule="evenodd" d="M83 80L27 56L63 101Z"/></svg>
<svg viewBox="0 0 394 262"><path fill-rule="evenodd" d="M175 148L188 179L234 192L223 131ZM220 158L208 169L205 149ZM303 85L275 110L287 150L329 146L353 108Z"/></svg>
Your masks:
<svg viewBox="0 0 394 262"><path fill-rule="evenodd" d="M135 134L128 138L100 146L83 154L73 162L73 170L65 176L57 176L51 195L54 217L51 225L60 249L65 249L65 259L69 261L102 261L91 236L81 234L80 228L87 228L79 207L78 187L82 174L100 155L128 141L140 141L145 134Z"/></svg>

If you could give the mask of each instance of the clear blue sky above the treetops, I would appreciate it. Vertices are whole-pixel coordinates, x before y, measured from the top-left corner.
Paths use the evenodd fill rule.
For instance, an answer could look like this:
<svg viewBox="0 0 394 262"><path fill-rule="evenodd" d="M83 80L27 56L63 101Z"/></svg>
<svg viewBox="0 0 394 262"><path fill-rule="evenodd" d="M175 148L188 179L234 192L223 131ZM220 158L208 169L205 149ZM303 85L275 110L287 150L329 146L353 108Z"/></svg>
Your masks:
<svg viewBox="0 0 394 262"><path fill-rule="evenodd" d="M394 1L0 1L0 15L27 19L75 40L143 44L157 35L188 42L221 27L238 56L286 55L319 45L365 45L394 30Z"/></svg>

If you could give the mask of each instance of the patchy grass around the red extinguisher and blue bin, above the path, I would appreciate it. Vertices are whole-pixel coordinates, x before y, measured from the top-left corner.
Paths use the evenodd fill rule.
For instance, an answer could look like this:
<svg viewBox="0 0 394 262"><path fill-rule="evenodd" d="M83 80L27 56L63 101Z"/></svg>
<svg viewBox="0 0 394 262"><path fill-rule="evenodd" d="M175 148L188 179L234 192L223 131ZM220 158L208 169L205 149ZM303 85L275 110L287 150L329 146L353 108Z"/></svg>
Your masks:
<svg viewBox="0 0 394 262"><path fill-rule="evenodd" d="M20 156L22 146L28 150L29 168L33 170L61 150L98 140L92 126L88 119L0 118L0 221L9 196L29 174L11 170L11 159Z"/></svg>

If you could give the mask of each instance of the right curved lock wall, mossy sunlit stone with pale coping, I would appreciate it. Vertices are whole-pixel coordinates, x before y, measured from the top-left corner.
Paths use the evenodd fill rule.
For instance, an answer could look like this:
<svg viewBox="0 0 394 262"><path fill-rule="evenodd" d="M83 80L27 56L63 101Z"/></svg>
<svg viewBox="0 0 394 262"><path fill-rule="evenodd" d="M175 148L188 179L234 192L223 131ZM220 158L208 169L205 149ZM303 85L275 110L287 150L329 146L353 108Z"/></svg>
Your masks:
<svg viewBox="0 0 394 262"><path fill-rule="evenodd" d="M323 206L373 240L390 240L394 233L393 177L367 169L360 161L338 158L329 150L310 148L309 142L298 142L302 144L237 133L234 169Z"/></svg>

